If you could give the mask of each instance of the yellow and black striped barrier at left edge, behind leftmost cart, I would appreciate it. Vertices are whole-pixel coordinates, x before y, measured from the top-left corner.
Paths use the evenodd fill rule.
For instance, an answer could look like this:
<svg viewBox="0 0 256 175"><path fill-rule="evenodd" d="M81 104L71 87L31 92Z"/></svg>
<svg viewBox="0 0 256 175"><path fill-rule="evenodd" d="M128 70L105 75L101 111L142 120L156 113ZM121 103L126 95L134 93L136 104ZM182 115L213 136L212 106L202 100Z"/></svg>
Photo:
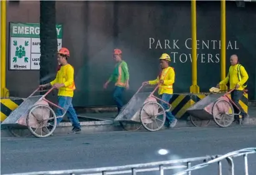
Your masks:
<svg viewBox="0 0 256 175"><path fill-rule="evenodd" d="M21 98L1 99L1 122L3 122L23 101L24 99Z"/></svg>

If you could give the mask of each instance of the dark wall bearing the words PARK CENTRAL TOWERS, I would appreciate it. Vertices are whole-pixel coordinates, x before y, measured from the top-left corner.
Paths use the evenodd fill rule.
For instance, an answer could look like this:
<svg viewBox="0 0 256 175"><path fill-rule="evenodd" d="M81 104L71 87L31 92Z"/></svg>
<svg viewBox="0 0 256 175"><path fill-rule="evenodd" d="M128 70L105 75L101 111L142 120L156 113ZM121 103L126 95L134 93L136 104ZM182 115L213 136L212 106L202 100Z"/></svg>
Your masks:
<svg viewBox="0 0 256 175"><path fill-rule="evenodd" d="M70 49L70 63L75 66L75 105L115 104L113 84L103 90L115 65L111 60L115 47L123 50L130 68L131 89L126 100L141 82L156 78L162 53L172 57L171 66L176 71L174 91L189 92L191 2L56 1L56 6L57 22L64 25L62 45ZM230 44L227 70L230 55L237 54L249 73L249 98L254 99L256 4L246 2L245 7L237 7L235 2L227 2L226 7L227 47ZM39 2L9 2L7 16L8 22L39 22ZM207 92L220 81L220 2L197 2L197 40L197 83L201 92ZM164 42L169 42L170 48ZM26 96L39 83L39 71L31 72L7 71L7 87L18 96ZM34 83L29 83L31 80Z"/></svg>

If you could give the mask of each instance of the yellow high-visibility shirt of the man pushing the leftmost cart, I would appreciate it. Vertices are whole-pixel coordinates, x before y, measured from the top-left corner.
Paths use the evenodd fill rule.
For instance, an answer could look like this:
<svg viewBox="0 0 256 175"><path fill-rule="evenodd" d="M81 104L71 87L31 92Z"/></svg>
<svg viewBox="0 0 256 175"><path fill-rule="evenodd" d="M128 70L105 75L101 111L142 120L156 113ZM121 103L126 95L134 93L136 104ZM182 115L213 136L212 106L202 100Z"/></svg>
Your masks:
<svg viewBox="0 0 256 175"><path fill-rule="evenodd" d="M73 74L74 70L71 65L61 66L54 81L50 82L52 86L55 83L64 83L65 86L59 88L58 96L73 97L73 91L75 90Z"/></svg>

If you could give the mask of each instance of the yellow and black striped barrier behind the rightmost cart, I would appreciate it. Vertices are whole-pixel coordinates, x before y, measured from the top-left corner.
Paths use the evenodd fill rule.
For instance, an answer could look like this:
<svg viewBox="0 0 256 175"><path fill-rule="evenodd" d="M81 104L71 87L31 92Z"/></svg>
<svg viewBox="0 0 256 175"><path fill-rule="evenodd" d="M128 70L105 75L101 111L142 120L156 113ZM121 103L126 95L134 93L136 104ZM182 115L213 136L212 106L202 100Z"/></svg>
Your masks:
<svg viewBox="0 0 256 175"><path fill-rule="evenodd" d="M177 119L186 120L187 117L189 117L189 114L186 112L186 110L191 107L191 105L206 97L208 94L209 93L173 94L173 97L169 102L171 104L171 112ZM239 101L239 104L242 106L244 111L248 113L248 94L244 94L242 99Z"/></svg>

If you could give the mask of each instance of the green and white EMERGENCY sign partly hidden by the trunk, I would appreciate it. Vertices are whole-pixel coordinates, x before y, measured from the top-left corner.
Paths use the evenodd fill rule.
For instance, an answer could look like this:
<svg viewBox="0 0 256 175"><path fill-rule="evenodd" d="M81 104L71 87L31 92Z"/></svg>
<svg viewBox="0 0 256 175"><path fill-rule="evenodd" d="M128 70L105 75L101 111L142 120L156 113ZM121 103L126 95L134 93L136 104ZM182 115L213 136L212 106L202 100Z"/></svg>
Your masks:
<svg viewBox="0 0 256 175"><path fill-rule="evenodd" d="M10 70L40 70L40 24L10 23ZM58 50L62 47L62 25L56 25Z"/></svg>

